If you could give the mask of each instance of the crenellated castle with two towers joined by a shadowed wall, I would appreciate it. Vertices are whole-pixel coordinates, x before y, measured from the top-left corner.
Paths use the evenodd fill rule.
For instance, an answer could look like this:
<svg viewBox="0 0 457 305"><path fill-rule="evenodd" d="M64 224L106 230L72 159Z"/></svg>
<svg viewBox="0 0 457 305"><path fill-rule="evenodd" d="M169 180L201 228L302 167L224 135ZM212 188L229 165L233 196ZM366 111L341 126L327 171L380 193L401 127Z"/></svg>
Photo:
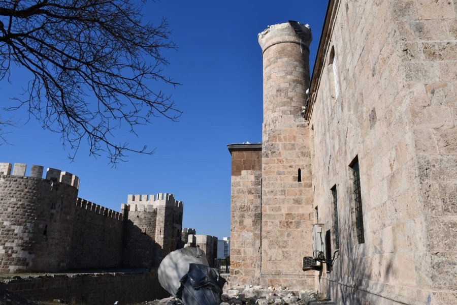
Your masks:
<svg viewBox="0 0 457 305"><path fill-rule="evenodd" d="M0 163L0 270L157 267L181 245L183 203L128 195L121 213L78 198L79 178Z"/></svg>

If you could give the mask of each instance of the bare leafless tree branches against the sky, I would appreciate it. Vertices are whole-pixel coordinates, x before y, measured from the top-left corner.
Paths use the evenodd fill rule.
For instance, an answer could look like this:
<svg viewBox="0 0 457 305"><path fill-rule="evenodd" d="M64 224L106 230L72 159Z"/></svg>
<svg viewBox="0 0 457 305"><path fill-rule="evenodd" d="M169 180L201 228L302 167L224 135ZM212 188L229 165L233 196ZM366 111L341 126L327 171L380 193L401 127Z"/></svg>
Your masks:
<svg viewBox="0 0 457 305"><path fill-rule="evenodd" d="M116 140L115 131L175 120L181 112L151 82L164 76L165 49L175 48L166 20L142 21L131 0L0 0L0 79L12 64L31 72L17 107L60 133L74 158L82 141L91 155L116 163L128 152L151 154Z"/></svg>

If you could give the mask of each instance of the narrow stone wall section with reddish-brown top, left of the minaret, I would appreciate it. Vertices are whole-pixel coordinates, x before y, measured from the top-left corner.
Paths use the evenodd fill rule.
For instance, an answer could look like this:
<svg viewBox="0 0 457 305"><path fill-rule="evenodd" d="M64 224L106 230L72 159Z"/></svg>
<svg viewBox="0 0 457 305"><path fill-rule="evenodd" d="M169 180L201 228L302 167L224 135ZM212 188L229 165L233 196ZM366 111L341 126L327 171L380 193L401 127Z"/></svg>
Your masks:
<svg viewBox="0 0 457 305"><path fill-rule="evenodd" d="M228 145L232 155L231 248L232 283L260 284L262 220L262 145Z"/></svg>

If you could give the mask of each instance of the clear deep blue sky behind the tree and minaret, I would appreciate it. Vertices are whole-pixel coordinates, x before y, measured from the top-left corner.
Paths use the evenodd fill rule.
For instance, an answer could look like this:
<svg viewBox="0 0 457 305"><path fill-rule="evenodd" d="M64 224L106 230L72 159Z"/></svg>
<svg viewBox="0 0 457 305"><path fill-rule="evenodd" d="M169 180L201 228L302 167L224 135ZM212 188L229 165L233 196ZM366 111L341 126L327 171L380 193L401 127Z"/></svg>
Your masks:
<svg viewBox="0 0 457 305"><path fill-rule="evenodd" d="M9 145L0 146L0 162L58 168L81 179L79 197L119 211L128 194L173 193L184 202L183 227L198 234L230 236L231 158L227 144L262 141L262 51L257 34L268 25L297 20L313 33L310 66L318 47L327 1L173 1L146 2L144 18L166 17L177 51L167 51L165 73L182 85L156 84L173 95L183 111L178 122L155 118L122 133L120 142L147 144L155 154L130 154L113 168L104 156L76 159L59 134L44 131L25 109L1 111L19 124L9 128ZM27 74L14 67L12 83L0 82L3 105L26 85Z"/></svg>

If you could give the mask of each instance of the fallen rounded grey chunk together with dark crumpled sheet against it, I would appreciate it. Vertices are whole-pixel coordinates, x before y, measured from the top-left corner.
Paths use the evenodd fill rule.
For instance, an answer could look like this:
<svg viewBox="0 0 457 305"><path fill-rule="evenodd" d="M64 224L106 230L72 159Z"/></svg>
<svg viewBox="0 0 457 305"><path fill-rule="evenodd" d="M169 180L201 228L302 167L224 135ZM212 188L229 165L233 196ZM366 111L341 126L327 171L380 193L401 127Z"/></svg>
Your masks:
<svg viewBox="0 0 457 305"><path fill-rule="evenodd" d="M158 269L159 283L178 300L168 305L219 305L225 280L208 265L200 248L176 250L165 257Z"/></svg>

